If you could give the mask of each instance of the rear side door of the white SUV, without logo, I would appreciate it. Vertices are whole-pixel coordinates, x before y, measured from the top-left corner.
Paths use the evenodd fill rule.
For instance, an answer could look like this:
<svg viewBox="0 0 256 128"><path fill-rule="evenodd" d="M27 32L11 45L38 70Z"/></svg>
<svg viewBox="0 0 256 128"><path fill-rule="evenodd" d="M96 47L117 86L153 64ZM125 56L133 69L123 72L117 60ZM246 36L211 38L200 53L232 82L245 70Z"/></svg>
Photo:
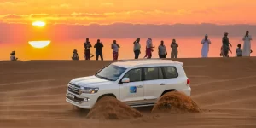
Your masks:
<svg viewBox="0 0 256 128"><path fill-rule="evenodd" d="M148 104L157 102L165 90L166 81L160 67L143 68L144 98Z"/></svg>

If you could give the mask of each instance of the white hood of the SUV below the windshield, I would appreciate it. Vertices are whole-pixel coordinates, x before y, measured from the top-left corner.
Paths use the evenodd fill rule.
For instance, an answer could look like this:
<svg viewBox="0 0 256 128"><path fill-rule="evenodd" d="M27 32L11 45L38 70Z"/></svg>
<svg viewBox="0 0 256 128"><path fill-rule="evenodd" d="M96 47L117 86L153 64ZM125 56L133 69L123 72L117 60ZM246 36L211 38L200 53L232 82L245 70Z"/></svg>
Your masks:
<svg viewBox="0 0 256 128"><path fill-rule="evenodd" d="M105 84L113 84L113 81L100 79L100 78L97 78L96 76L90 76L90 77L72 79L70 83L83 86L83 87L97 87Z"/></svg>

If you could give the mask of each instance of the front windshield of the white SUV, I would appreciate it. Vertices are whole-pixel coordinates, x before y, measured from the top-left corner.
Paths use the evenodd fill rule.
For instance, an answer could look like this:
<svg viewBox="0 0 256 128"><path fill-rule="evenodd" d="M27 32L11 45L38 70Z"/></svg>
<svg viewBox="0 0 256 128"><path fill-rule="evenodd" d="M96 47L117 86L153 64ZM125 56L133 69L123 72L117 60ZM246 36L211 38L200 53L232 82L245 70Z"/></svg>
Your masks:
<svg viewBox="0 0 256 128"><path fill-rule="evenodd" d="M103 68L99 73L96 73L96 77L115 81L119 79L120 75L124 73L125 70L126 68L124 67L109 65L108 67Z"/></svg>

